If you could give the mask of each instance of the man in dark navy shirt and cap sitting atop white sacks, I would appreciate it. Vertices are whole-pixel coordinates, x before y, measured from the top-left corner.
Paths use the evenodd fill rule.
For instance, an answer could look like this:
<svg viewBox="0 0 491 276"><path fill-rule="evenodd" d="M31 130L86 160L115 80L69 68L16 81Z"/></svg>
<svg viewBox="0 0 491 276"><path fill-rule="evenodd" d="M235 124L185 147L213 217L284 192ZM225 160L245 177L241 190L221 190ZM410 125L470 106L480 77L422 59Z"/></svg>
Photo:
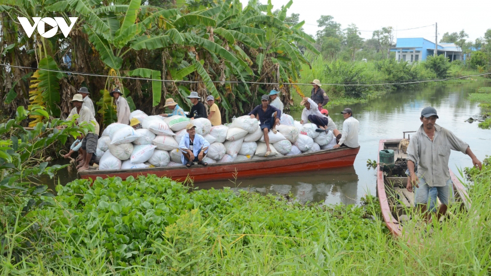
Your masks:
<svg viewBox="0 0 491 276"><path fill-rule="evenodd" d="M264 142L266 143L266 154L268 156L271 153L270 148L270 137L268 133L270 129L276 134L276 125L279 125L279 120L281 118L281 110L272 107L270 104L270 97L268 95L263 95L261 97L261 104L255 107L249 112L251 118L256 118L259 121L259 127L264 133Z"/></svg>

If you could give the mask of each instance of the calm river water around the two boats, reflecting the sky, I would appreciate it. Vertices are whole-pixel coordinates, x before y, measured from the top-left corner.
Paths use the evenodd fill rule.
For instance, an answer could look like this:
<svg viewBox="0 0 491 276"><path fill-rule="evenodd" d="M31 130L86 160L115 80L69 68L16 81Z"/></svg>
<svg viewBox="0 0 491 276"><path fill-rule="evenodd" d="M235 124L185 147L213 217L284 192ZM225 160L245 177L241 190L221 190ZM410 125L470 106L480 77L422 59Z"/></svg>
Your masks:
<svg viewBox="0 0 491 276"><path fill-rule="evenodd" d="M479 160L491 155L491 131L478 128L477 122L466 122L469 117L481 113L477 103L467 100L467 94L481 86L490 85L475 82L405 88L367 103L349 105L354 117L360 122L361 147L354 166L247 179L241 178L239 174L235 182L214 181L198 183L196 186L203 189L231 187L234 190L244 189L263 194L292 193L301 202L357 204L367 193L376 194L375 170L367 168L366 162L368 159L377 160L379 140L402 138L403 131L417 130L421 125L419 116L424 107L435 107L439 116L436 123L467 142ZM340 112L344 108L336 106L328 109L340 131L344 120ZM290 114L300 120L301 111ZM472 162L467 155L452 151L449 166L459 175L459 169L472 166ZM59 182L58 179L49 181L50 188L54 188L57 183L72 181L76 173L64 170L58 176Z"/></svg>

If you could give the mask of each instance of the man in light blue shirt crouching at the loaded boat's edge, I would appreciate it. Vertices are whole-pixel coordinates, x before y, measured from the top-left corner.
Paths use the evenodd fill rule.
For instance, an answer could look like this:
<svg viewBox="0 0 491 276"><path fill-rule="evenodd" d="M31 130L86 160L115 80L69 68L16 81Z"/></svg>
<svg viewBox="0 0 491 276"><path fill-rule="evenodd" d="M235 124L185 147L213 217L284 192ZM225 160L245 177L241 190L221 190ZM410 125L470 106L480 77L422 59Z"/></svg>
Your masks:
<svg viewBox="0 0 491 276"><path fill-rule="evenodd" d="M208 153L210 143L203 136L196 134L196 126L189 123L186 126L187 133L181 138L179 149L182 151L181 162L187 167L191 167L193 162L206 166L203 157Z"/></svg>

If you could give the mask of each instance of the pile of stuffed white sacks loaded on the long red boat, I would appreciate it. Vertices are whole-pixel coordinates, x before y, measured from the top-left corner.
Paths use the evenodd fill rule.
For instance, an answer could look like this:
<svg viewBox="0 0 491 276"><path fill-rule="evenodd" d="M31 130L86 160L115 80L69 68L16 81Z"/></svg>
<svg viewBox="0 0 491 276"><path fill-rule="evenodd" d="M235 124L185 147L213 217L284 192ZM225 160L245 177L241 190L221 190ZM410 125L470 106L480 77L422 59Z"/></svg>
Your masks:
<svg viewBox="0 0 491 276"><path fill-rule="evenodd" d="M99 169L183 166L179 142L191 119L178 115L149 116L141 110L131 112L131 118L137 118L142 128L135 130L129 125L113 123L102 133L97 144L102 156ZM269 133L272 152L265 157L264 135L255 118L241 116L228 126L212 127L206 118L194 119L192 123L196 126L196 133L210 143L203 159L209 164L299 155L330 149L336 143L332 131L318 133L316 125L301 125L292 116L282 114L277 133Z"/></svg>

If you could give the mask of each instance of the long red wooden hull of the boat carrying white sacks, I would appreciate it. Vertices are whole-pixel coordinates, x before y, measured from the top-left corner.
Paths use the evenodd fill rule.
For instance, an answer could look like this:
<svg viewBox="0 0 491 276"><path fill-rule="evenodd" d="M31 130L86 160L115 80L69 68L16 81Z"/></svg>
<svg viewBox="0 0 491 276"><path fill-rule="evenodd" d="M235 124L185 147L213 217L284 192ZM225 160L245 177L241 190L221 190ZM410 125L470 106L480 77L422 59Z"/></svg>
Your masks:
<svg viewBox="0 0 491 276"><path fill-rule="evenodd" d="M110 177L119 176L126 179L132 175L156 174L157 176L167 176L174 180L183 181L188 176L194 182L227 180L233 179L235 173L237 177L252 177L260 175L273 175L285 172L299 172L309 170L319 170L324 168L353 166L356 155L360 147L349 148L340 147L337 149L320 150L316 152L293 155L271 157L264 160L241 161L230 163L209 164L208 166L194 165L191 168L186 166L150 167L142 169L120 169L120 170L98 170L89 168L79 171L80 178Z"/></svg>

